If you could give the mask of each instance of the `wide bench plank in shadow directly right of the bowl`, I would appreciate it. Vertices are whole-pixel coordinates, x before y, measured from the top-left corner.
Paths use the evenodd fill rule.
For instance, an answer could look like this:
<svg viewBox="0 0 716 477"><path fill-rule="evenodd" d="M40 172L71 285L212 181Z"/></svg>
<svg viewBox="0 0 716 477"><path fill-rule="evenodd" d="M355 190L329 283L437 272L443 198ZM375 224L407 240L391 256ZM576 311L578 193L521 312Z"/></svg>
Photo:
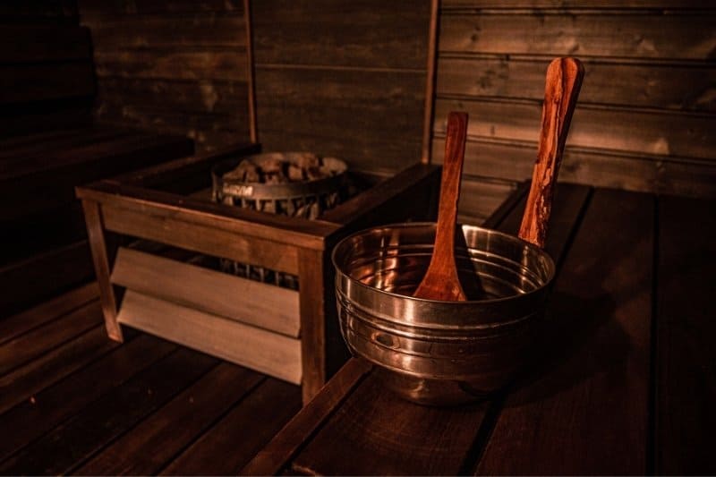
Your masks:
<svg viewBox="0 0 716 477"><path fill-rule="evenodd" d="M645 473L653 216L652 196L594 193L553 292L544 358L507 397L477 473Z"/></svg>

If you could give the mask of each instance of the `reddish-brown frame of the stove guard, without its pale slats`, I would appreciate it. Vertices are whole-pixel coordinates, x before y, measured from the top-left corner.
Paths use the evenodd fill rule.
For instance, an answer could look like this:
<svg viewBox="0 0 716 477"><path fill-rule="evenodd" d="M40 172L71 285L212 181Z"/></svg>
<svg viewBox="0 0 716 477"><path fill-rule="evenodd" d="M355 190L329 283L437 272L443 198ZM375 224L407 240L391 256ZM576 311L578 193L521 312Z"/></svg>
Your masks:
<svg viewBox="0 0 716 477"><path fill-rule="evenodd" d="M377 220L388 223L409 217L406 210L428 209L431 193L437 192L439 166L411 166L328 211L320 220L265 214L183 195L191 190L196 177L209 177L218 160L259 149L259 145L249 144L177 159L81 186L76 192L85 210L107 333L117 341L122 341L119 303L110 281L115 251L107 245L107 233L132 235L302 277L301 359L303 399L308 402L345 359L331 355L333 350L344 353L339 342L328 343L340 339L335 336L337 330L326 327L327 314L332 316L335 310L333 278L325 271L332 269L328 268L329 251L345 234Z"/></svg>

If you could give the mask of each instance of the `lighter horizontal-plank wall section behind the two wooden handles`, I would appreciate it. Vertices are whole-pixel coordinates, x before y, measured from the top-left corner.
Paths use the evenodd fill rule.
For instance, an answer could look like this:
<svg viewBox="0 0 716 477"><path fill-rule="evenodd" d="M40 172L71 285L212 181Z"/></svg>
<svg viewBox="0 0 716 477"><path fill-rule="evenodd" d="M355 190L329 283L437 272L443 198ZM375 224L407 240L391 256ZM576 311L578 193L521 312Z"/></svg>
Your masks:
<svg viewBox="0 0 716 477"><path fill-rule="evenodd" d="M558 55L586 70L561 180L716 196L714 27L703 0L442 0L433 153L468 111L462 218L530 177Z"/></svg>

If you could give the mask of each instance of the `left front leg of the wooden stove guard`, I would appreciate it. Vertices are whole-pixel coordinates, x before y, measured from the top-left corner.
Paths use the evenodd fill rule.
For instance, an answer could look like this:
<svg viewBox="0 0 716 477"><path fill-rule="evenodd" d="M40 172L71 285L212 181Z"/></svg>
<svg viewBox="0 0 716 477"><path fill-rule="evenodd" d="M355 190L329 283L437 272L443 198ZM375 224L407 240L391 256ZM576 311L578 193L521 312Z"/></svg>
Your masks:
<svg viewBox="0 0 716 477"><path fill-rule="evenodd" d="M87 224L87 235L90 239L90 250L92 261L95 265L95 274L99 285L99 297L102 302L102 313L105 316L105 328L107 336L111 339L123 342L122 328L117 322L117 305L115 290L109 281L109 258L107 257L107 241L105 240L105 229L102 223L102 213L98 202L94 200L82 200L84 219Z"/></svg>

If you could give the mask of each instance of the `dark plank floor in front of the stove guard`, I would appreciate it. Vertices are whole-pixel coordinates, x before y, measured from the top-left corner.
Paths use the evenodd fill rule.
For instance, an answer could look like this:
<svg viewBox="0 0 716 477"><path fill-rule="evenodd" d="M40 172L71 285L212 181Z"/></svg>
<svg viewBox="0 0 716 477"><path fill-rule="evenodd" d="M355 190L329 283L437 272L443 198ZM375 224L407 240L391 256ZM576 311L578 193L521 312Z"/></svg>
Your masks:
<svg viewBox="0 0 716 477"><path fill-rule="evenodd" d="M3 318L0 473L237 473L301 406L294 385L158 337L108 340L96 284Z"/></svg>

